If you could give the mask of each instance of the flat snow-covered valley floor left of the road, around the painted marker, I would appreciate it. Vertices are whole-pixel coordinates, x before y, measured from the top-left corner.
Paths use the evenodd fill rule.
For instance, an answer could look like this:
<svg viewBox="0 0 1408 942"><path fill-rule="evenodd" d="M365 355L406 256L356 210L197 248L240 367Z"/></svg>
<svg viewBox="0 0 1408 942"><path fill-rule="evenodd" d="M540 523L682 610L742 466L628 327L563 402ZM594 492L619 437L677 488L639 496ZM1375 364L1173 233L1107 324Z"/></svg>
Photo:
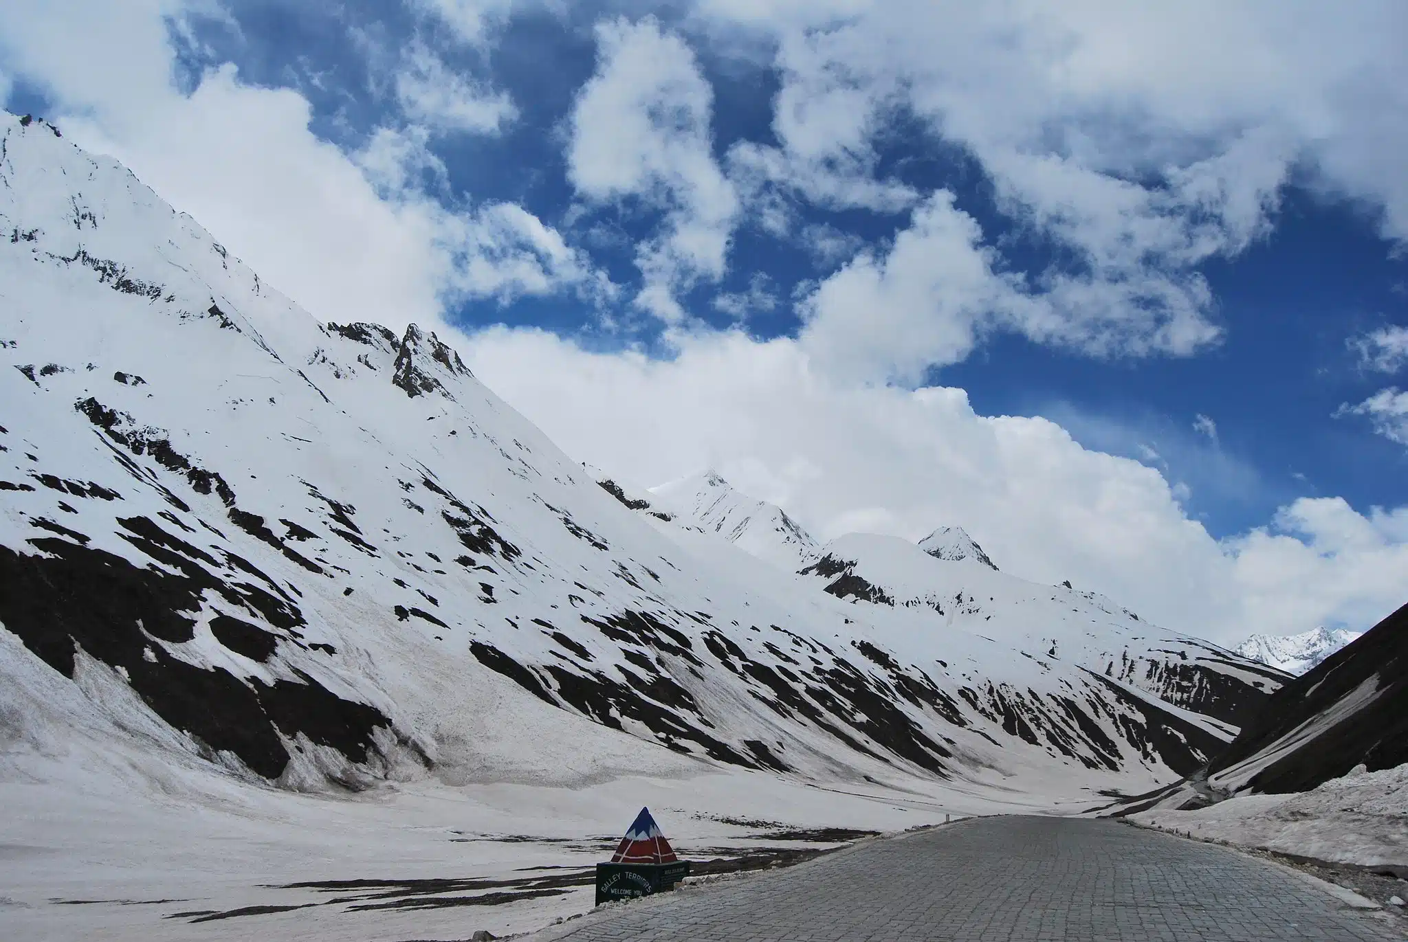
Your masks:
<svg viewBox="0 0 1408 942"><path fill-rule="evenodd" d="M946 815L1074 812L1081 796L1000 797L915 780L818 787L701 766L576 789L425 780L310 796L169 776L149 789L0 783L7 939L463 939L591 908L591 865L641 805L681 858L836 846ZM994 797L998 796L998 797Z"/></svg>

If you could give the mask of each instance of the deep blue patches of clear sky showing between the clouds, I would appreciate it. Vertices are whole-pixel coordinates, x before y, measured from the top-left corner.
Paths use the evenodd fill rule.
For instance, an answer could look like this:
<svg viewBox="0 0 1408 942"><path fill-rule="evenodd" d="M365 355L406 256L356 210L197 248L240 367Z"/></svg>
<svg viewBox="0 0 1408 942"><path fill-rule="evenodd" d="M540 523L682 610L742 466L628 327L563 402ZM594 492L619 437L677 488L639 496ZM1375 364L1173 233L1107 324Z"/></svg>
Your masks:
<svg viewBox="0 0 1408 942"><path fill-rule="evenodd" d="M656 13L666 24L691 28L679 14ZM491 48L465 48L453 31L390 4L231 3L224 15L193 18L196 44L187 45L182 66L187 86L204 69L234 62L249 83L296 87L314 107L314 131L356 149L376 128L404 120L397 103L377 93L384 79L369 65L369 46L428 42L452 68L505 92L518 113L493 137L448 132L431 141L448 172L451 199L524 206L587 246L629 291L641 277L634 246L649 237L653 214L627 203L567 221L574 193L563 123L596 66L597 15L529 10L508 18ZM696 44L715 96L715 156L722 159L738 141L777 146L772 100L779 77L770 63L731 56L708 37L696 37ZM42 94L32 103L27 97L21 89L14 106L45 104ZM918 191L956 191L957 206L979 220L991 242L1004 245L1005 263L1017 270L1059 263L1059 246L1001 213L991 180L962 148L935 139L903 113L881 137L876 176ZM1360 368L1350 341L1408 324L1408 256L1383 238L1377 207L1307 189L1294 173L1280 200L1269 232L1232 258L1200 266L1215 299L1208 320L1224 331L1208 349L1191 356L1090 356L998 334L967 359L926 370L922 382L966 389L980 413L1057 418L1091 448L1166 469L1190 484L1190 510L1219 536L1255 525L1301 494L1340 494L1360 507L1408 501L1404 448L1374 435L1362 417L1335 418L1343 403L1363 401L1383 386L1381 375ZM834 211L798 203L791 227L832 225L857 245L874 246L905 222L903 210ZM765 276L776 307L743 322L759 338L794 335L800 321L793 290L845 260L815 259L794 241L749 225L734 234L731 256L724 277L698 284L684 300L691 314L727 328L738 318L711 301L721 293L746 293ZM596 344L645 344L669 356L659 346L662 325L632 317L628 294L610 307L631 327L605 337L600 311L562 299L462 300L451 317L472 327L587 332ZM1200 414L1214 421L1215 441L1194 429Z"/></svg>

